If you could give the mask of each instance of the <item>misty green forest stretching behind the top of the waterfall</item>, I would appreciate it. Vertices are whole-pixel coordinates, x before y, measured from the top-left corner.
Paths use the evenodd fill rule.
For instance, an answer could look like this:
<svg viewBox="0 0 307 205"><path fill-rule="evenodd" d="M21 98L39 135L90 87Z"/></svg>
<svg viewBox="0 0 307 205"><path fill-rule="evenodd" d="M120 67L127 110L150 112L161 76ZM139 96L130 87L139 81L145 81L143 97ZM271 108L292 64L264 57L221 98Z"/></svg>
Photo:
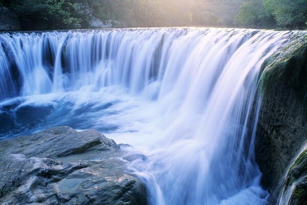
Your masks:
<svg viewBox="0 0 307 205"><path fill-rule="evenodd" d="M305 28L307 0L0 0L24 30L113 27L251 26Z"/></svg>

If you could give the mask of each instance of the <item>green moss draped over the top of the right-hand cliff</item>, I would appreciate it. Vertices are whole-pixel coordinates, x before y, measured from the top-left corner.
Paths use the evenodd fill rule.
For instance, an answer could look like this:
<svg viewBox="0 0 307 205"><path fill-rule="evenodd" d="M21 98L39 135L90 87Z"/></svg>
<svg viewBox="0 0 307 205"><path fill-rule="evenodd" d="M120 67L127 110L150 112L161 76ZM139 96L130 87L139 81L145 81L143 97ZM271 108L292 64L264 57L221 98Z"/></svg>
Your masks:
<svg viewBox="0 0 307 205"><path fill-rule="evenodd" d="M295 34L293 42L268 58L260 86L265 97L274 95L274 90L284 86L293 90L302 103L307 99L307 38L306 34Z"/></svg>

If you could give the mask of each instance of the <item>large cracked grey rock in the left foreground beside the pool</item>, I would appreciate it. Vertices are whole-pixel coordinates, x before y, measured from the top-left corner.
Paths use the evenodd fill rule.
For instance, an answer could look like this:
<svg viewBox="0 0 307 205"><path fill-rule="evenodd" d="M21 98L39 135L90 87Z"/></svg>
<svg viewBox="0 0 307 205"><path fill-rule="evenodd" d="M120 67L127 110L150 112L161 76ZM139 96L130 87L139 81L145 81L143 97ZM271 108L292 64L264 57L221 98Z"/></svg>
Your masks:
<svg viewBox="0 0 307 205"><path fill-rule="evenodd" d="M55 127L0 147L0 204L147 204L125 153L97 131Z"/></svg>

